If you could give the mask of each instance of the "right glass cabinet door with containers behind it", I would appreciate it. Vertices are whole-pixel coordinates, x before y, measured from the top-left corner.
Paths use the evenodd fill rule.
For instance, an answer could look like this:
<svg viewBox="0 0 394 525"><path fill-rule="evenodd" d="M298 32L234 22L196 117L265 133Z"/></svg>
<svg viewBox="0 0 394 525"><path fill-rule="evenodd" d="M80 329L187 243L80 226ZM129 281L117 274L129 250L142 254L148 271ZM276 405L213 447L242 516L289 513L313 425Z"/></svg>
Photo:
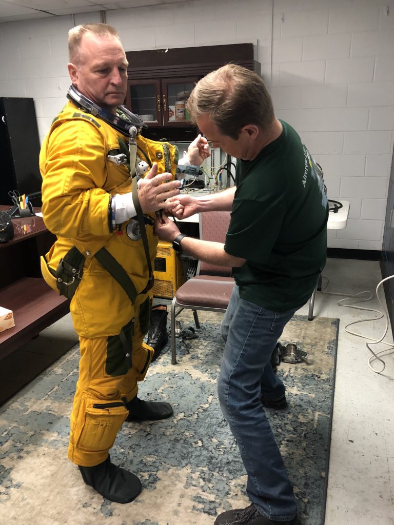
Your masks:
<svg viewBox="0 0 394 525"><path fill-rule="evenodd" d="M161 81L163 124L165 126L191 124L185 102L190 97L197 81L197 77L171 78Z"/></svg>

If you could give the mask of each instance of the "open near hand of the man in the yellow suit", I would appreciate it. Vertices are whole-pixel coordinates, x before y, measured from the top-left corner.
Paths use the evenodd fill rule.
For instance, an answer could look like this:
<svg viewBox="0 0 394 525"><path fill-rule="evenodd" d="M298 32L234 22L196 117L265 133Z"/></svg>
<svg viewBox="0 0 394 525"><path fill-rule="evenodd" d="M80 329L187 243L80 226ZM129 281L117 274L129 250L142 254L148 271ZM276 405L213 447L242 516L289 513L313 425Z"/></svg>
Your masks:
<svg viewBox="0 0 394 525"><path fill-rule="evenodd" d="M171 181L171 182L165 182ZM138 185L138 198L144 213L156 212L167 207L165 199L179 194L180 181L173 181L171 173L157 175L157 163Z"/></svg>

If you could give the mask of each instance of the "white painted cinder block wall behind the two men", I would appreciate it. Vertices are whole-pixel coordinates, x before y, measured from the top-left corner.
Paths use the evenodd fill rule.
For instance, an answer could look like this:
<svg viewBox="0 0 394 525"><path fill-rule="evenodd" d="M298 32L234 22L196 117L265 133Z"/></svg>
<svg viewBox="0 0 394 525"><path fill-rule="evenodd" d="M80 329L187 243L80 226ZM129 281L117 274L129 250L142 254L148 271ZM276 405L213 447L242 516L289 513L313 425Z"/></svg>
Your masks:
<svg viewBox="0 0 394 525"><path fill-rule="evenodd" d="M33 97L43 139L65 102L67 31L99 12L0 24L0 96ZM276 115L351 203L329 246L382 247L394 138L394 0L195 0L110 9L126 50L252 42ZM231 59L231 57L229 57Z"/></svg>

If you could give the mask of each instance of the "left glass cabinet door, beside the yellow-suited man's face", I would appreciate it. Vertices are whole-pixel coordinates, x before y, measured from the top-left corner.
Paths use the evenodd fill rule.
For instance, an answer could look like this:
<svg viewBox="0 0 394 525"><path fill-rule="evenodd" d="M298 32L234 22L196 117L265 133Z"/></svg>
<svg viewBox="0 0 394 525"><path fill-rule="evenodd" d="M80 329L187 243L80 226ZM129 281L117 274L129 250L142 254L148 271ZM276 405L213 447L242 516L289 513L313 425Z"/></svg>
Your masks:
<svg viewBox="0 0 394 525"><path fill-rule="evenodd" d="M160 80L129 80L126 106L148 126L162 125Z"/></svg>

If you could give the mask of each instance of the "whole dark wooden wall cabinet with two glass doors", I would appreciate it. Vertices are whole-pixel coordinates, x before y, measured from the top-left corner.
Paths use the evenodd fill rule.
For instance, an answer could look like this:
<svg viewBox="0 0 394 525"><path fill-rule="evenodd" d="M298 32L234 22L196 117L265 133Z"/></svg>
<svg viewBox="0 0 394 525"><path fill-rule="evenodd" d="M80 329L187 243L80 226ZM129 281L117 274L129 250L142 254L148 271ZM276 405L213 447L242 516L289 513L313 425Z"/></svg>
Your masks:
<svg viewBox="0 0 394 525"><path fill-rule="evenodd" d="M260 75L253 44L127 51L129 66L126 107L147 124L144 137L191 141L198 130L183 112L196 82L210 71L233 62ZM177 103L179 112L177 118ZM174 114L172 114L174 113Z"/></svg>

